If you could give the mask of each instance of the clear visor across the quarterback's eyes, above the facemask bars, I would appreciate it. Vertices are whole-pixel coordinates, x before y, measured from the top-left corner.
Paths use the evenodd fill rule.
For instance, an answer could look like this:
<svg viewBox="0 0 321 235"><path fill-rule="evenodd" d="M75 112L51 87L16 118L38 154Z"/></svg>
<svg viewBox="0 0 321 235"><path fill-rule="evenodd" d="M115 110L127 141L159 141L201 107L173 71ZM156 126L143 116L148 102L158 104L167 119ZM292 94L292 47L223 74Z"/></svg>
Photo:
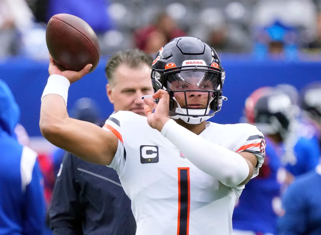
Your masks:
<svg viewBox="0 0 321 235"><path fill-rule="evenodd" d="M171 91L219 89L218 74L203 71L181 71L167 75L167 88Z"/></svg>

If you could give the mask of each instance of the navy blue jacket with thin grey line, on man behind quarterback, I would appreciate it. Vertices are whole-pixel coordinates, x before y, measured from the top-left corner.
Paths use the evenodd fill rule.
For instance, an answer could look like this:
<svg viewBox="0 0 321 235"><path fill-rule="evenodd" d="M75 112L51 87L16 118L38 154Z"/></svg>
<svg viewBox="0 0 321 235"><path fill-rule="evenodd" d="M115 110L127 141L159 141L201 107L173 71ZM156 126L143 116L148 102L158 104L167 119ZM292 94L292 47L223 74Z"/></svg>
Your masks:
<svg viewBox="0 0 321 235"><path fill-rule="evenodd" d="M49 208L54 235L134 235L131 201L116 171L66 153Z"/></svg>

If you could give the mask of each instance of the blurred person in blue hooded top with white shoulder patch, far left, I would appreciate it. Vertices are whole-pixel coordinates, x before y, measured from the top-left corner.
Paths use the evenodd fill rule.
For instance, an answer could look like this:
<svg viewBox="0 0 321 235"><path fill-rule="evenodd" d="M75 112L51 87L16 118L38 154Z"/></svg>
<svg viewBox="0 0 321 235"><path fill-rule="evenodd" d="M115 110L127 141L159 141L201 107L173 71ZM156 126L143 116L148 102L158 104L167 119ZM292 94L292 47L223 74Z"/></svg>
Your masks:
<svg viewBox="0 0 321 235"><path fill-rule="evenodd" d="M19 118L13 94L0 80L0 234L42 235L46 214L42 175L37 153L17 140Z"/></svg>

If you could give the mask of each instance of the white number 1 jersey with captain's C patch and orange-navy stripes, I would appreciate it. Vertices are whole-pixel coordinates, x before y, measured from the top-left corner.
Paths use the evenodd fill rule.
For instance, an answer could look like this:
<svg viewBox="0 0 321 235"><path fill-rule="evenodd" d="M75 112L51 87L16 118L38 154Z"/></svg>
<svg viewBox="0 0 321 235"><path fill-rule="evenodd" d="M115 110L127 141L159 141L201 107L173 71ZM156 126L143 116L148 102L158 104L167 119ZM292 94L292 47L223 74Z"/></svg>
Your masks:
<svg viewBox="0 0 321 235"><path fill-rule="evenodd" d="M244 186L227 187L199 170L185 158L184 150L152 129L146 117L119 111L103 128L119 139L109 167L117 171L132 200L137 235L231 233L233 208ZM256 154L257 175L264 159L260 153L264 140L255 126L207 122L200 136L234 152Z"/></svg>

